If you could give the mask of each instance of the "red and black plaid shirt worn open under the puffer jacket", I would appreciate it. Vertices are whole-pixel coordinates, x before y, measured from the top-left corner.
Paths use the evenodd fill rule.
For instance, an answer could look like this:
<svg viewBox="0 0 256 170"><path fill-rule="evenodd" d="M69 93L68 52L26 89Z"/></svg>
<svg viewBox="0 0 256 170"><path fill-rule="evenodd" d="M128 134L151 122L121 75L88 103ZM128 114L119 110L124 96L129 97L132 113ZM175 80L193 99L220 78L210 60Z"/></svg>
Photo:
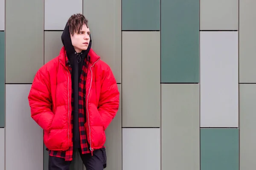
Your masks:
<svg viewBox="0 0 256 170"><path fill-rule="evenodd" d="M80 143L81 143L81 151L82 154L84 153L90 153L90 149L87 144L86 140L86 130L84 127L84 111L85 111L85 82L87 77L87 68L88 68L88 62L90 60L90 56L88 56L88 59L84 59L84 64L82 66L82 71L80 75L79 80L79 105L82 107L79 107L79 133L80 133ZM71 72L70 62L68 61L67 55L66 55L66 65L69 68ZM73 113L73 90L72 90L72 99L71 99L71 105L72 105L72 113ZM73 132L73 114L71 114L71 130ZM73 133L72 133L72 141L73 141ZM48 150L48 149L47 149ZM73 142L70 148L66 151L55 151L55 150L49 150L49 156L56 156L59 158L64 158L65 161L72 161L73 159Z"/></svg>

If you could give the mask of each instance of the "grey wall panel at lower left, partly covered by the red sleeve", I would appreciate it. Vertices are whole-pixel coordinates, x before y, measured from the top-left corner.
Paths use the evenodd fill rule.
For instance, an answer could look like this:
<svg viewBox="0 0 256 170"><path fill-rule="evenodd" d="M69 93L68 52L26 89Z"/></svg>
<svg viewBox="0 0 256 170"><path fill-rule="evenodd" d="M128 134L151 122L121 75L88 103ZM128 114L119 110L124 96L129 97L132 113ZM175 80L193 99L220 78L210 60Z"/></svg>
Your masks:
<svg viewBox="0 0 256 170"><path fill-rule="evenodd" d="M44 167L43 130L30 116L30 88L31 85L6 85L6 170Z"/></svg>

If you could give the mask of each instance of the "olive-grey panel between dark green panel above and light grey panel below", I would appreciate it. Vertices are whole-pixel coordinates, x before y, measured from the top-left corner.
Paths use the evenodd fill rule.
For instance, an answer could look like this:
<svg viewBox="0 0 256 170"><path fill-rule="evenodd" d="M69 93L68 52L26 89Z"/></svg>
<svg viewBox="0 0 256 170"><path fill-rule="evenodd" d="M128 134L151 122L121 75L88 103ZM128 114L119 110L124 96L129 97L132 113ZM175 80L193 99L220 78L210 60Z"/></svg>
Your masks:
<svg viewBox="0 0 256 170"><path fill-rule="evenodd" d="M160 127L159 31L122 33L122 93L122 127Z"/></svg>

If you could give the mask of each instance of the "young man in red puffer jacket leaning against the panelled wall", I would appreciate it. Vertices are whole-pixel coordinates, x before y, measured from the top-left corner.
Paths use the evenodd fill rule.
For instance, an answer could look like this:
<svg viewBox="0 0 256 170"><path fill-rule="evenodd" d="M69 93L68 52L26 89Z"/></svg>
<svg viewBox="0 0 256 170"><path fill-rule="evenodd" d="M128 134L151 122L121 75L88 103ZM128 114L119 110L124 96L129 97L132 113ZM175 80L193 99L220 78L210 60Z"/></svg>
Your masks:
<svg viewBox="0 0 256 170"><path fill-rule="evenodd" d="M58 57L41 67L29 92L31 117L44 130L49 170L69 170L79 151L87 170L106 167L105 130L119 108L111 68L91 49L82 14L72 15Z"/></svg>

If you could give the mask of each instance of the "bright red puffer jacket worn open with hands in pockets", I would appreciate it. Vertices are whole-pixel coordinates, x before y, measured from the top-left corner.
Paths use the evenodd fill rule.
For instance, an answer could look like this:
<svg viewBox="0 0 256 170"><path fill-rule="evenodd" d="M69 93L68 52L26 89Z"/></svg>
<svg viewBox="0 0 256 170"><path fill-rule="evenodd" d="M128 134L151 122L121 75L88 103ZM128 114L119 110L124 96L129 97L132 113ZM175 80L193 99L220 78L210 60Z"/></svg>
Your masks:
<svg viewBox="0 0 256 170"><path fill-rule="evenodd" d="M119 91L111 68L90 49L86 80L84 124L91 149L105 144L105 129L119 108ZM50 150L67 150L71 139L71 74L65 66L65 49L38 70L29 92L31 117L44 130Z"/></svg>

